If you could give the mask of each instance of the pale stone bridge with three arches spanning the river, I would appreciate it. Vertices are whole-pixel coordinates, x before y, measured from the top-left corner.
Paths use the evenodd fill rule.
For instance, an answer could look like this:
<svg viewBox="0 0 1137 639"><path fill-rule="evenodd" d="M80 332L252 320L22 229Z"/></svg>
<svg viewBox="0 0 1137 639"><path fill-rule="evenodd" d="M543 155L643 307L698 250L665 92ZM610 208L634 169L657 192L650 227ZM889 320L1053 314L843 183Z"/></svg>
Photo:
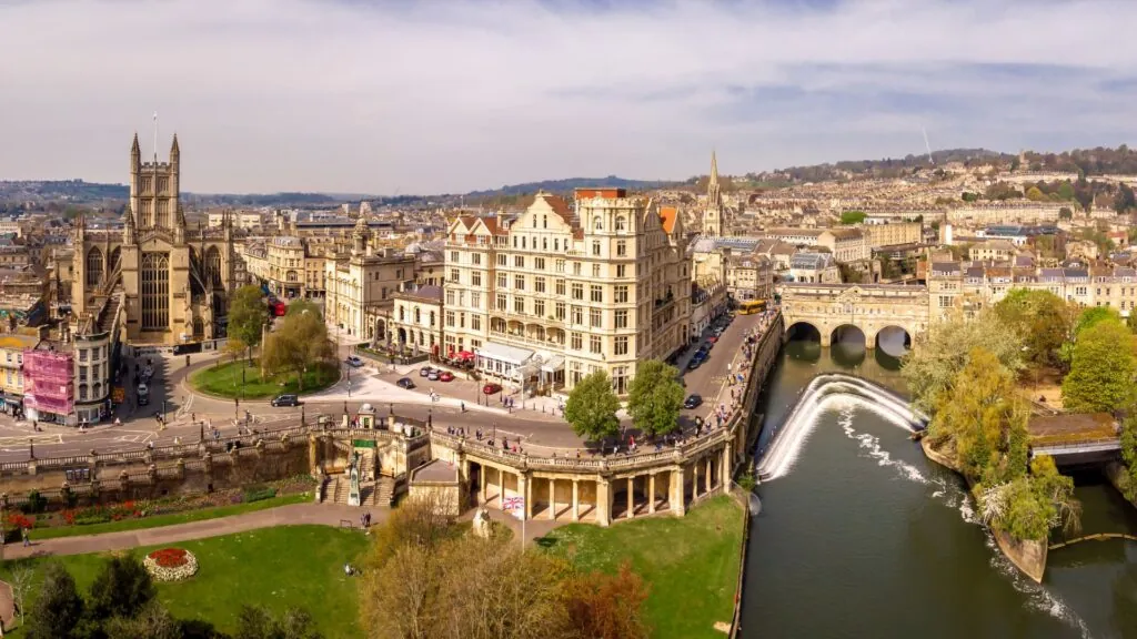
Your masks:
<svg viewBox="0 0 1137 639"><path fill-rule="evenodd" d="M779 292L786 334L812 326L823 347L846 332L860 332L865 348L875 348L882 333L897 331L907 346L928 330L927 287L785 283Z"/></svg>

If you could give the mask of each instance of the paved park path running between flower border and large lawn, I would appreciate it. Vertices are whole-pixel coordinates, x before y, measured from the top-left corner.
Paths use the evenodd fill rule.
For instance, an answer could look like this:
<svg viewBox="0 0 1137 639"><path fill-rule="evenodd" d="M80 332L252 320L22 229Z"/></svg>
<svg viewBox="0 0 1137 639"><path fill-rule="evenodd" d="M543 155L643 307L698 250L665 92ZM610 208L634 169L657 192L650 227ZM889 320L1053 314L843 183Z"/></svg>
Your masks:
<svg viewBox="0 0 1137 639"><path fill-rule="evenodd" d="M335 504L291 504L277 508L244 513L229 517L218 517L200 522L174 524L144 530L107 532L103 534L84 534L82 537L63 537L35 541L32 532L32 545L25 548L20 543L9 543L3 549L5 559L22 557L41 557L48 555L82 555L84 553L103 553L107 550L124 550L140 546L157 546L176 543L192 539L204 539L221 534L246 532L262 528L288 524L323 524L338 526L341 521L359 525L359 515L370 512L372 523L387 518L385 508L363 508Z"/></svg>

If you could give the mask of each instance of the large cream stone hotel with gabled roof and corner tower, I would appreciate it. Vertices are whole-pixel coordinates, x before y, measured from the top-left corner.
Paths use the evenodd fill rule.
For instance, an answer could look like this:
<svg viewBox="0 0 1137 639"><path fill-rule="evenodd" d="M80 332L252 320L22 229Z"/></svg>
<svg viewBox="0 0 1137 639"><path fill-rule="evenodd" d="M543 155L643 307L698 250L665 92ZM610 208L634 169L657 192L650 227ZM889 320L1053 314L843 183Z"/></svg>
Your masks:
<svg viewBox="0 0 1137 639"><path fill-rule="evenodd" d="M622 395L636 362L687 342L686 233L649 198L538 193L512 219L453 219L445 250L446 351L475 352L490 379L548 392L604 370Z"/></svg>

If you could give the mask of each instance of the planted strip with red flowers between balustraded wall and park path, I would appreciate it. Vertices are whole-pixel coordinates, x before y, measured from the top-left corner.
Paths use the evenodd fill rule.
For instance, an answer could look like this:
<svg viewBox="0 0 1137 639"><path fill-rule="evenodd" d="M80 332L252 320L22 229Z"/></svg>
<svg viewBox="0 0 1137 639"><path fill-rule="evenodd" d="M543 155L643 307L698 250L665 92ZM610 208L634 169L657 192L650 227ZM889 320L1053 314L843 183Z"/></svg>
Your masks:
<svg viewBox="0 0 1137 639"><path fill-rule="evenodd" d="M308 475L208 495L184 495L118 504L72 507L45 513L45 500L33 492L20 511L6 514L0 525L6 541L18 541L20 530L32 530L35 540L141 530L194 521L227 517L310 500L315 480Z"/></svg>

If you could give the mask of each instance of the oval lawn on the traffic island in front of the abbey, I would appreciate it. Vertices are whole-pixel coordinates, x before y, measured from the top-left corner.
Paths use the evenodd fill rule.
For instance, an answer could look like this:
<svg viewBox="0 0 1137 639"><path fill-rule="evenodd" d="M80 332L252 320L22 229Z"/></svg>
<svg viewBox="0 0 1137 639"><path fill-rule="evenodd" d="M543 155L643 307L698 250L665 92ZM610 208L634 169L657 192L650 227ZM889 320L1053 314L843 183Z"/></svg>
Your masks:
<svg viewBox="0 0 1137 639"><path fill-rule="evenodd" d="M241 383L242 368L244 370L243 384ZM256 360L251 366L244 360L209 366L190 376L190 384L194 390L218 397L240 397L241 399L267 399L281 393L316 392L338 381L340 381L340 371L337 365L313 366L304 374L304 390L301 391L293 373L271 375L262 380L260 367Z"/></svg>

